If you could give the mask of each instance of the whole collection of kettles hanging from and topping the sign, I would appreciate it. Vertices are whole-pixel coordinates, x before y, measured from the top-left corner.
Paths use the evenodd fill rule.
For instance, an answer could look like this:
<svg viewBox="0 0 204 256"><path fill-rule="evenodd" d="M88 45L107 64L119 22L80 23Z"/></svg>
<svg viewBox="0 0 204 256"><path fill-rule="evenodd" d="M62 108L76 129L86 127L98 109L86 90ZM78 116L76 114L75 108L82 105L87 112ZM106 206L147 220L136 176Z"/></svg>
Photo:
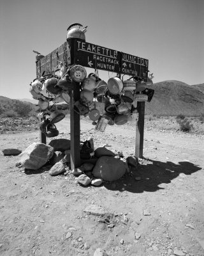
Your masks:
<svg viewBox="0 0 204 256"><path fill-rule="evenodd" d="M75 26L79 26L79 28L73 28ZM72 39L85 42L87 27L80 29L81 26L79 23L74 23L68 27L66 38L68 44ZM36 53L38 54L37 61L45 57L39 52ZM59 72L59 76L55 75L56 72ZM45 74L45 72L43 73ZM51 108L50 111L49 104L53 102L54 106L57 106L56 103L64 101L69 104L73 86L76 86L73 82L80 84L80 99L74 102L74 110L79 115L89 115L92 124L96 125L96 129L99 131L105 131L107 124L126 124L128 117L135 110L133 101L150 102L154 95L154 90L148 88L149 84L152 84L151 75L147 81L142 81L140 77L130 77L128 80L122 81L120 76L116 76L108 79L106 83L99 78L98 73L91 73L87 76L82 65L66 67L63 63L58 65L53 74L44 74L40 78L34 79L30 84L29 92L34 99L38 100L40 108L38 116L42 120L40 131L47 137L55 137L59 134L55 123L60 122L65 116L59 109L52 111ZM105 104L103 113L96 108L96 102Z"/></svg>

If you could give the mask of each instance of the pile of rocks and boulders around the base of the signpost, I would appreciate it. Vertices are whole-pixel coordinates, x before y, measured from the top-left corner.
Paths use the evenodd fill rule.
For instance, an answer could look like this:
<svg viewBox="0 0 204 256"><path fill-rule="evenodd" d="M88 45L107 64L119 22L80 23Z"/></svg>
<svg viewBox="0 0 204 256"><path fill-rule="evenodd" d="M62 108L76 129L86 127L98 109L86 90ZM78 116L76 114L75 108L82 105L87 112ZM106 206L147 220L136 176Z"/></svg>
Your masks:
<svg viewBox="0 0 204 256"><path fill-rule="evenodd" d="M82 150L82 149L81 149ZM129 168L135 168L138 160L135 157L124 159L106 147L92 148L87 159L81 159L81 166L71 170L70 140L55 139L49 145L33 143L18 156L18 165L25 169L39 170L45 164L52 166L50 175L72 173L82 186L101 186L103 181L112 182L120 179Z"/></svg>

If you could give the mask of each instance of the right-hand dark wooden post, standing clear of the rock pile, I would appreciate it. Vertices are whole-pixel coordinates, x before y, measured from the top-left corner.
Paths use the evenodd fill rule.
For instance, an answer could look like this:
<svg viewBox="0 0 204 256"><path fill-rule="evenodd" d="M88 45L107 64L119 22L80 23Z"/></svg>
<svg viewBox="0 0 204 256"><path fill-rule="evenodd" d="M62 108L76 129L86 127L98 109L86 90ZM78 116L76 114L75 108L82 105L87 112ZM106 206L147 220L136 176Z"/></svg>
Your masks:
<svg viewBox="0 0 204 256"><path fill-rule="evenodd" d="M136 123L135 157L143 157L143 138L145 122L145 102L137 103L138 122Z"/></svg>

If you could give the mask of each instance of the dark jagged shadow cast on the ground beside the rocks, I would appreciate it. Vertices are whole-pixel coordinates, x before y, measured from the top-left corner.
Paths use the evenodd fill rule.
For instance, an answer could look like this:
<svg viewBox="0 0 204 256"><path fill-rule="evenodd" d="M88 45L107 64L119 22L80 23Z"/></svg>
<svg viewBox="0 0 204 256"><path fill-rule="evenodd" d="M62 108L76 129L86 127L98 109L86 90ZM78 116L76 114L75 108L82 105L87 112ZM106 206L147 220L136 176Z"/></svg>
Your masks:
<svg viewBox="0 0 204 256"><path fill-rule="evenodd" d="M199 166L190 162L179 162L179 164L175 164L151 159L146 160L147 164L141 164L120 180L112 183L105 182L103 186L113 191L129 191L131 193L154 192L163 189L159 188L160 184L171 183L171 180L177 178L180 173L191 175L201 170ZM135 180L138 177L141 179Z"/></svg>

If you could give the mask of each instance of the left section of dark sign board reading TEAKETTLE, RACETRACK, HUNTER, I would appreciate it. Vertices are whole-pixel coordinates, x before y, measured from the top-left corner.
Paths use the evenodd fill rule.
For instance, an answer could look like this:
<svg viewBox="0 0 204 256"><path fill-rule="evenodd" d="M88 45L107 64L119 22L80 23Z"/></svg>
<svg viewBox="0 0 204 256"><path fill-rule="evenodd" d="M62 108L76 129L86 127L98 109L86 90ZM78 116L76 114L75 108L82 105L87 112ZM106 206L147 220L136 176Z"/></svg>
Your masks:
<svg viewBox="0 0 204 256"><path fill-rule="evenodd" d="M121 53L99 45L76 40L75 63L84 67L120 72Z"/></svg>

